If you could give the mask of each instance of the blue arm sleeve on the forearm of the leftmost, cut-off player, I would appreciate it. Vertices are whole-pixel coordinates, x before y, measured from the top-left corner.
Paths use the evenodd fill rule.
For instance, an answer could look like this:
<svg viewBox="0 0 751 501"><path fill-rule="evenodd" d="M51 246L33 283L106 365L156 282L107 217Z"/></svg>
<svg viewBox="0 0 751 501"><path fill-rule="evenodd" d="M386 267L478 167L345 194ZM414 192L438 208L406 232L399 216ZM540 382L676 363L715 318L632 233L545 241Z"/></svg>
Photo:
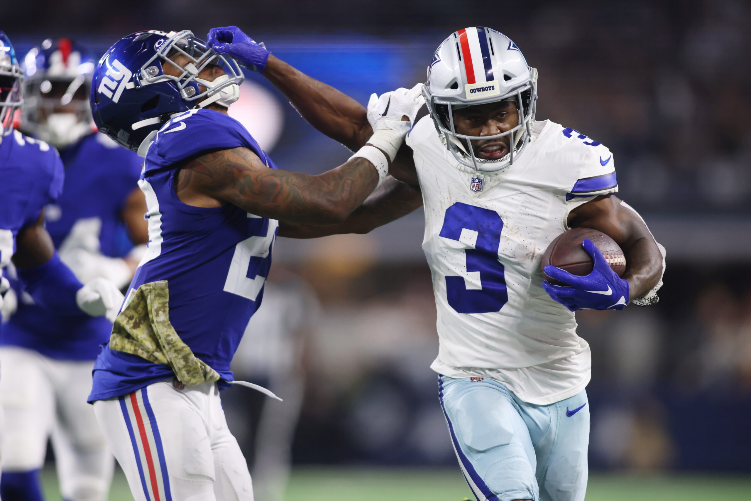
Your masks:
<svg viewBox="0 0 751 501"><path fill-rule="evenodd" d="M55 252L44 264L17 270L18 279L35 302L58 315L86 315L78 307L76 293L83 287Z"/></svg>

